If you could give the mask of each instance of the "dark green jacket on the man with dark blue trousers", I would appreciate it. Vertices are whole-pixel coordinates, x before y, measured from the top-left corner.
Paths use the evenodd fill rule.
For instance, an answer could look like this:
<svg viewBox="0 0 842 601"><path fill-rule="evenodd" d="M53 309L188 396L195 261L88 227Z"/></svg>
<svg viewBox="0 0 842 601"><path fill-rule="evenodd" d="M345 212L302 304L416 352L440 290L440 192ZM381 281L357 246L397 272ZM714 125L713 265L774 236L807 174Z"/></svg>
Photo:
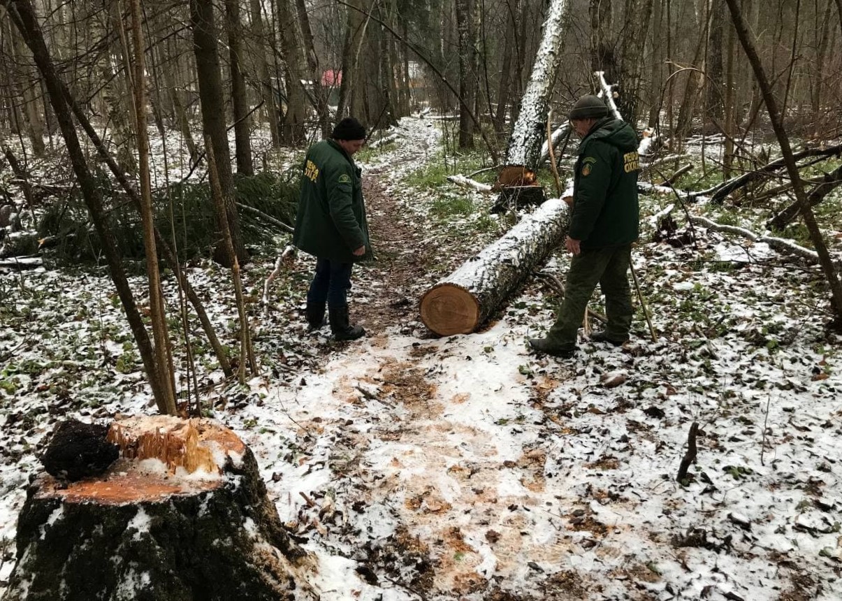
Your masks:
<svg viewBox="0 0 842 601"><path fill-rule="evenodd" d="M292 243L305 253L341 263L370 258L368 221L360 169L333 140L307 151L301 166L301 198ZM354 250L365 245L365 255Z"/></svg>

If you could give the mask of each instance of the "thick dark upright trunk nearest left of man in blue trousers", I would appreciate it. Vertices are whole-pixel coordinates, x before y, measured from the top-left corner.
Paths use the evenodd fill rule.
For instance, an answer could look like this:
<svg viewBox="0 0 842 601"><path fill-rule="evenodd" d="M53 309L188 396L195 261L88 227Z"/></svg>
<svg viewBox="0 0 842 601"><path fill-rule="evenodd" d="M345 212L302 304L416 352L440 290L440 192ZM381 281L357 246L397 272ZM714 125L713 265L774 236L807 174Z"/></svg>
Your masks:
<svg viewBox="0 0 842 601"><path fill-rule="evenodd" d="M213 144L220 186L225 199L225 215L216 213L218 238L214 257L218 263L225 267L231 267L234 264L234 258L228 256L226 248L221 244L221 228L223 223L226 222L223 220L227 220L228 228L231 231L232 246L239 263L248 262L248 253L242 245L237 205L234 204L231 152L228 149L225 103L222 100L222 77L219 67L219 53L216 49L216 27L211 0L190 0L190 22L193 25L193 51L196 56L196 75L199 79L202 124L205 134L210 136L210 141Z"/></svg>

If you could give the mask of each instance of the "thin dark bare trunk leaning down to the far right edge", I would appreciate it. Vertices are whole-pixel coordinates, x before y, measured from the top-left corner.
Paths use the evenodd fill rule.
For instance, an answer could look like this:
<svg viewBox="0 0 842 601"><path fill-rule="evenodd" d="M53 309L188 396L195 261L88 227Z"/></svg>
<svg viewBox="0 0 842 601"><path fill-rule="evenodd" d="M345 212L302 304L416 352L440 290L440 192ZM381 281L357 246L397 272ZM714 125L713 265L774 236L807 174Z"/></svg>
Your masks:
<svg viewBox="0 0 842 601"><path fill-rule="evenodd" d="M754 42L749 37L749 28L745 23L745 19L743 19L743 14L740 13L740 8L737 6L737 0L726 0L726 2L728 9L731 11L734 29L737 31L737 36L743 45L746 56L749 57L749 62L754 70L754 77L757 78L760 92L763 94L763 100L766 104L766 109L769 111L769 118L772 122L772 128L775 130L775 136L777 136L778 142L781 144L781 153L786 162L786 171L789 173L792 188L801 205L804 224L807 226L807 231L810 232L810 239L813 241L813 247L816 248L816 253L818 253L818 260L822 266L822 271L828 279L831 297L830 304L834 315L834 327L839 329L839 327L842 327L842 284L839 283L839 277L836 274L833 259L830 258L828 247L824 243L822 232L818 229L816 217L813 215L813 209L804 191L804 183L802 182L801 175L798 173L795 158L792 157L789 137L786 135L786 130L784 129L777 100L775 100L775 95L772 93L772 88L766 77L763 64L760 62L760 58L754 48Z"/></svg>

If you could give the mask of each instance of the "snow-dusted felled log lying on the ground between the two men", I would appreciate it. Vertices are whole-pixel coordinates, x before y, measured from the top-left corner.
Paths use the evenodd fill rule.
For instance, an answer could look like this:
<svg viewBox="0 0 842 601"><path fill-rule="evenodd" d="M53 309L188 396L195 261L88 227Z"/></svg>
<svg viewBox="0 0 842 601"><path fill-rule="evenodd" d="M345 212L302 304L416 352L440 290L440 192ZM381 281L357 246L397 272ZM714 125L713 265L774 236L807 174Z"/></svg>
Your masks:
<svg viewBox="0 0 842 601"><path fill-rule="evenodd" d="M562 241L568 205L547 200L421 298L424 325L442 336L479 327Z"/></svg>

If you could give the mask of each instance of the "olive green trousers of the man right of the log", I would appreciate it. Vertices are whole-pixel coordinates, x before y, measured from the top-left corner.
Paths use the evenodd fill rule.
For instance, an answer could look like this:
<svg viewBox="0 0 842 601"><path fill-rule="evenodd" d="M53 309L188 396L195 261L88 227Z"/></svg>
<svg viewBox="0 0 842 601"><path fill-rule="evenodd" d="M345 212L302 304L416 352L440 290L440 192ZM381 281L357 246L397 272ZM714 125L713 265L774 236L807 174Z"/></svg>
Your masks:
<svg viewBox="0 0 842 601"><path fill-rule="evenodd" d="M547 340L557 347L572 348L576 345L584 310L597 284L605 295L605 316L608 317L605 334L611 340L628 338L634 315L628 280L631 261L631 244L584 250L573 255L568 281L564 285L564 301L556 322L547 332Z"/></svg>

